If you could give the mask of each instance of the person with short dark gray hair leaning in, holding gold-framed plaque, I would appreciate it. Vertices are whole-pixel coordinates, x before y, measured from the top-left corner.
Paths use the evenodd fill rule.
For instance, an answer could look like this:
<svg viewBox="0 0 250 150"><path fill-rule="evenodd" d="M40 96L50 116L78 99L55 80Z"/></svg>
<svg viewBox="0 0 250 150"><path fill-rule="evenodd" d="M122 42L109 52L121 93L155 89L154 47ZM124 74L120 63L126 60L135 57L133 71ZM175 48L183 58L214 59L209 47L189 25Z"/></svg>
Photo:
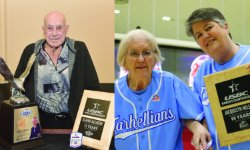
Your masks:
<svg viewBox="0 0 250 150"><path fill-rule="evenodd" d="M250 46L233 42L225 17L215 8L195 10L186 21L186 32L187 35L193 36L201 49L211 57L200 66L192 89L202 102L206 117L204 123L207 123L211 133L213 149L249 149L249 141L225 147L220 146L203 77L249 63Z"/></svg>

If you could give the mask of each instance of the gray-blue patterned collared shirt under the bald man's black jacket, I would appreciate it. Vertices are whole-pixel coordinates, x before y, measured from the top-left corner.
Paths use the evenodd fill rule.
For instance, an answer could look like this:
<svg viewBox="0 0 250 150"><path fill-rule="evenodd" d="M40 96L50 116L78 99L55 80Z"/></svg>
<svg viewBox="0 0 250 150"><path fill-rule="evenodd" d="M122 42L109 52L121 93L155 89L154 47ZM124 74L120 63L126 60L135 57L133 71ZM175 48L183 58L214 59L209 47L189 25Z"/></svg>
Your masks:
<svg viewBox="0 0 250 150"><path fill-rule="evenodd" d="M68 112L69 99L69 59L68 46L64 44L57 65L41 46L38 55L38 80L36 101L48 113Z"/></svg>

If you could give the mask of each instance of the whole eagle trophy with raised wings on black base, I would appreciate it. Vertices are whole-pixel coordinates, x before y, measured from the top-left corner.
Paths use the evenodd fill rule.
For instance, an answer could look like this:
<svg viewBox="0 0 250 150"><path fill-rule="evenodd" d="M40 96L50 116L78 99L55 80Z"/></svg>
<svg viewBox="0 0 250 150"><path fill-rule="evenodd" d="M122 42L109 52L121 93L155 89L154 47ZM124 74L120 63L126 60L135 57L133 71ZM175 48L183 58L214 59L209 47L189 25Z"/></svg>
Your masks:
<svg viewBox="0 0 250 150"><path fill-rule="evenodd" d="M23 94L23 83L35 61L33 54L25 71L14 78L10 69L0 58L0 73L9 83L10 98L1 102L0 145L5 149L30 149L44 144L41 134L38 107Z"/></svg>

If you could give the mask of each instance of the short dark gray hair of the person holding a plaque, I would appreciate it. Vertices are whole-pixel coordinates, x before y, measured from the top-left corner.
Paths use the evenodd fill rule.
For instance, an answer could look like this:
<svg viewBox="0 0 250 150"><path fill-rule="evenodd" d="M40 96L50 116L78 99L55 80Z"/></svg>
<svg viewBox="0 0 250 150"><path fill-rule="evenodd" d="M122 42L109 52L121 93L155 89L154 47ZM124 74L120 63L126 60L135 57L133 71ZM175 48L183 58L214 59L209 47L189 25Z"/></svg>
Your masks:
<svg viewBox="0 0 250 150"><path fill-rule="evenodd" d="M226 19L222 13L215 8L199 8L195 10L186 20L186 33L188 36L194 36L192 24L198 21L211 20L220 25L226 24ZM229 33L230 38L231 34Z"/></svg>

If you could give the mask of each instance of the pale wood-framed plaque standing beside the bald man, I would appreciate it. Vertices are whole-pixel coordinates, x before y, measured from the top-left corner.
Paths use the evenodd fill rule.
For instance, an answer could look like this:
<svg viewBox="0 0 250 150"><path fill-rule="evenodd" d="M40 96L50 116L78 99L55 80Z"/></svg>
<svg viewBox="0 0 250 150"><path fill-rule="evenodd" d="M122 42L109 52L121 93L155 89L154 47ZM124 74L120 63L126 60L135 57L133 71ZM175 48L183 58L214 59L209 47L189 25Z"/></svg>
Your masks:
<svg viewBox="0 0 250 150"><path fill-rule="evenodd" d="M85 90L72 132L83 134L82 145L108 150L114 131L114 93Z"/></svg>

